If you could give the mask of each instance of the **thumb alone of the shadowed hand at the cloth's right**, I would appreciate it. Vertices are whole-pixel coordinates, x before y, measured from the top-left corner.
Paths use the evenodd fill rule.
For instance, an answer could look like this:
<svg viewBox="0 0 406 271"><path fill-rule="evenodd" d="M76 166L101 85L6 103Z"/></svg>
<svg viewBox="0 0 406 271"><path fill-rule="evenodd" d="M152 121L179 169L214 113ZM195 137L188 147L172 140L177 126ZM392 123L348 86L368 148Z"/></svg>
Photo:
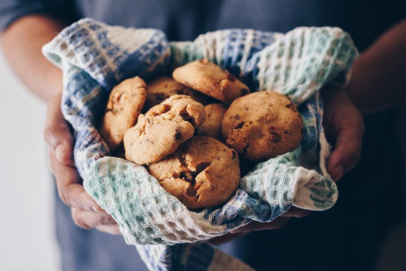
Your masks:
<svg viewBox="0 0 406 271"><path fill-rule="evenodd" d="M327 161L327 171L334 181L339 180L358 163L364 129L362 116L356 110L346 121L341 122L334 150Z"/></svg>

